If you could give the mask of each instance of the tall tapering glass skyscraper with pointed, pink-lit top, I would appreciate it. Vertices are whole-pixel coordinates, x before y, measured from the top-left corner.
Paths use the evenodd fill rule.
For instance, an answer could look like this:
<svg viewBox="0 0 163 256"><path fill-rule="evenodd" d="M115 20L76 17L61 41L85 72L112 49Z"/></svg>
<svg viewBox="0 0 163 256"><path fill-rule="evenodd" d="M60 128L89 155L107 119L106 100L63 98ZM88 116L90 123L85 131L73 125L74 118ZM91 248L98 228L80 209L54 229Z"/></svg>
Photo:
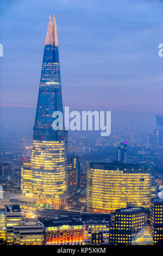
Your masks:
<svg viewBox="0 0 163 256"><path fill-rule="evenodd" d="M54 111L63 112L63 108L57 26L55 16L51 18L49 15L34 125L29 188L34 197L47 200L62 198L67 191L65 129L53 130Z"/></svg>

